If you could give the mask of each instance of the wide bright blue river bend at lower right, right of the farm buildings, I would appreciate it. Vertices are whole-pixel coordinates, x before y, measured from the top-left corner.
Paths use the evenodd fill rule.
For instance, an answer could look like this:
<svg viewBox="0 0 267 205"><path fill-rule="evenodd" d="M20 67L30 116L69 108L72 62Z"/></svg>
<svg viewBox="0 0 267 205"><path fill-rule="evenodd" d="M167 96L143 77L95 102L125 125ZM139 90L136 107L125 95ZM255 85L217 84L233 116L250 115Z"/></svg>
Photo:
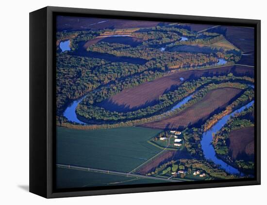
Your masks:
<svg viewBox="0 0 267 205"><path fill-rule="evenodd" d="M247 105L241 107L240 109L235 110L231 114L228 114L228 115L224 116L214 126L212 126L209 130L207 130L206 132L204 132L202 134L202 140L201 140L200 143L201 143L202 150L203 150L205 158L206 159L210 159L215 164L220 165L228 173L243 175L243 173L240 173L234 167L230 166L229 164L227 164L223 160L217 158L216 152L215 152L214 147L212 145L212 140L213 140L212 133L216 133L217 131L219 131L222 128L222 126L224 126L227 123L227 121L230 119L230 117L233 116L235 113L241 112L242 110L245 110L246 108L249 108L250 106L253 105L253 103L254 103L254 100L251 101L250 103L248 103Z"/></svg>

